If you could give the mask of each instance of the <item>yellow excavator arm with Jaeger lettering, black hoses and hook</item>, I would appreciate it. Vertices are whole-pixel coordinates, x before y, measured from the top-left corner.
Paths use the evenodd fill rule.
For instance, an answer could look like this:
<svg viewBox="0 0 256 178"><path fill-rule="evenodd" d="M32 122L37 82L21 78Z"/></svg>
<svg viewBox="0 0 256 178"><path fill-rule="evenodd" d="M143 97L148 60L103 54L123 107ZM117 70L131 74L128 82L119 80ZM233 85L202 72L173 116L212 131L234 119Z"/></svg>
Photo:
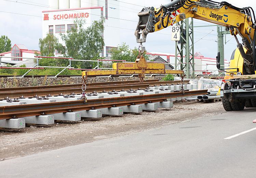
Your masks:
<svg viewBox="0 0 256 178"><path fill-rule="evenodd" d="M159 8L145 7L138 13L139 22L135 31L136 41L140 43L140 53L145 51L143 42L149 33L160 31L186 18L195 18L226 26L238 43L237 48L244 59L247 74L255 73L255 15L251 7L238 8L228 2L212 0L173 0ZM253 19L252 19L253 16ZM237 35L242 37L239 42ZM243 72L243 71L242 71Z"/></svg>

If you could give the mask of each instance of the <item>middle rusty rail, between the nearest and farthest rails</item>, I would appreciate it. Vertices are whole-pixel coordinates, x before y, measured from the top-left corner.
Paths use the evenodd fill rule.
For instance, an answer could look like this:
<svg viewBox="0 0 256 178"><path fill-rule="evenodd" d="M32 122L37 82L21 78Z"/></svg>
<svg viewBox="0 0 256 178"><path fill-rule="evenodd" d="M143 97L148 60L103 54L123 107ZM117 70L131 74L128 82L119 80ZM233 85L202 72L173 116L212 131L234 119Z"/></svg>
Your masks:
<svg viewBox="0 0 256 178"><path fill-rule="evenodd" d="M102 92L107 91L110 92L112 90L121 91L121 90L130 90L130 89L138 89L141 88L142 90L149 87L148 84L136 84L136 85L115 85L115 86L95 86L95 87L88 87L86 89L87 93ZM59 94L68 95L71 93L81 94L82 86L77 88L61 88L61 89L41 89L41 90L24 90L24 91L8 91L8 92L0 92L0 100L4 100L6 97L10 98L19 98L20 96L24 97L34 97L35 95L39 96L46 96L51 94L52 96L58 96Z"/></svg>

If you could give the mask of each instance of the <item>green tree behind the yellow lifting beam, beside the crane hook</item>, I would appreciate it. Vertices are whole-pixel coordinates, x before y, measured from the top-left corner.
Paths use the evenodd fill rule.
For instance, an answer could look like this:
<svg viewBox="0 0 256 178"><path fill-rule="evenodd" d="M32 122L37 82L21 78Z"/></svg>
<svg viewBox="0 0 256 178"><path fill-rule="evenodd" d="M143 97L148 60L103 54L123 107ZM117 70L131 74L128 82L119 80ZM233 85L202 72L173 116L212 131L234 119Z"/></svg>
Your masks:
<svg viewBox="0 0 256 178"><path fill-rule="evenodd" d="M139 50L138 48L131 50L129 45L122 43L121 45L118 45L117 48L113 48L110 53L111 59L113 60L126 60L129 62L134 62L139 55ZM148 59L149 55L145 55L145 53L143 56Z"/></svg>

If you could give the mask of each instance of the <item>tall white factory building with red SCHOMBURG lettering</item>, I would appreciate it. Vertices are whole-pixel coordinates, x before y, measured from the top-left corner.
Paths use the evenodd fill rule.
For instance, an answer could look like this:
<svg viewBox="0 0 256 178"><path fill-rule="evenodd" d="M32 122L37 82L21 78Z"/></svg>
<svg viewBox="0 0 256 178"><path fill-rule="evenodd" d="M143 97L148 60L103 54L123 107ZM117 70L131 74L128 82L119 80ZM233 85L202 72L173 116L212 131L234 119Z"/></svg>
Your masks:
<svg viewBox="0 0 256 178"><path fill-rule="evenodd" d="M103 17L105 46L101 55L108 57L111 48L120 44L118 6L117 0L49 0L49 9L42 11L42 37L44 38L47 33L53 34L65 46L60 33L70 31L76 19L85 19L85 27L88 27L93 21ZM56 55L59 55L57 51Z"/></svg>

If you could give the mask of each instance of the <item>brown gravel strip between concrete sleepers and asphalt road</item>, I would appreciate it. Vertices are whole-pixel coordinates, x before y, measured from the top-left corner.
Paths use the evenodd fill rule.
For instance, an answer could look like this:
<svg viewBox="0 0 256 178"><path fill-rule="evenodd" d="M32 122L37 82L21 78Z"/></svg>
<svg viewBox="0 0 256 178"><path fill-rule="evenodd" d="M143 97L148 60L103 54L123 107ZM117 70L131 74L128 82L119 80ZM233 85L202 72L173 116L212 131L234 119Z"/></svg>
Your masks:
<svg viewBox="0 0 256 178"><path fill-rule="evenodd" d="M50 126L31 125L24 129L0 128L0 161L79 145L96 140L131 135L166 125L189 122L225 112L222 102L174 102L172 109L140 114L105 116L79 122L58 122ZM185 131L185 130L184 130Z"/></svg>

